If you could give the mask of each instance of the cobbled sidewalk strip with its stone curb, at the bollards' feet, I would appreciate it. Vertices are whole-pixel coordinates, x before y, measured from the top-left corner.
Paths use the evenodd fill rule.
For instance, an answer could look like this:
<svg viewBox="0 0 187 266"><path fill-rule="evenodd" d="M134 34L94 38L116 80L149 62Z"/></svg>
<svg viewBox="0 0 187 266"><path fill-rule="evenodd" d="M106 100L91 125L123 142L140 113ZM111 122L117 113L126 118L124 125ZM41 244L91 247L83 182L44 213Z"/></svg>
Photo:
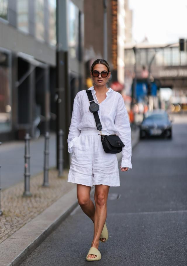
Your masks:
<svg viewBox="0 0 187 266"><path fill-rule="evenodd" d="M137 129L132 132L132 147L138 138ZM121 153L117 158L120 163ZM58 177L51 169L48 188L42 187L43 173L33 176L32 197L22 197L23 182L1 191L0 266L20 265L77 206L76 184L68 183L67 176L68 170Z"/></svg>

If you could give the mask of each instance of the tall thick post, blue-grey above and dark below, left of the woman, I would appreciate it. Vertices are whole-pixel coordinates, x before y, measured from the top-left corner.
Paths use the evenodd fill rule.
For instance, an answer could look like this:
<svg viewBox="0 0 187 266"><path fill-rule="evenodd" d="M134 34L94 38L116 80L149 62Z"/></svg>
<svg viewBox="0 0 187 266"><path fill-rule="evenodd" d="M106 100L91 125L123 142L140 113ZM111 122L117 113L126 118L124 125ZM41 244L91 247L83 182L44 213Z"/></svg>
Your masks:
<svg viewBox="0 0 187 266"><path fill-rule="evenodd" d="M63 167L69 167L67 152L68 125L70 121L70 90L68 89L68 1L56 0L56 167L59 170L59 159L63 158ZM64 149L59 151L58 132L63 130ZM63 154L59 154L63 153Z"/></svg>

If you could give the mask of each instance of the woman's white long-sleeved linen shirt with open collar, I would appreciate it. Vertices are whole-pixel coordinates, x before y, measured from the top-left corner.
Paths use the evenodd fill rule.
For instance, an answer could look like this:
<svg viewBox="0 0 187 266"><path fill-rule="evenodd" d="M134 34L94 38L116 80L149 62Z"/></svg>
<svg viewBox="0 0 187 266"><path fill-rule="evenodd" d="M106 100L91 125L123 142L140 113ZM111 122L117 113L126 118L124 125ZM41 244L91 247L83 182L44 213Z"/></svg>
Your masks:
<svg viewBox="0 0 187 266"><path fill-rule="evenodd" d="M92 91L93 99L99 105L98 115L103 127L102 130L108 132L108 134L116 133L125 144L122 147L121 167L129 167L131 169L131 128L122 95L109 88L106 92L106 98L99 103L94 86L90 87L89 90ZM86 90L79 91L74 99L67 139L69 153L73 152L72 146L79 137L81 130L97 130L96 122L93 113L89 110L89 106Z"/></svg>

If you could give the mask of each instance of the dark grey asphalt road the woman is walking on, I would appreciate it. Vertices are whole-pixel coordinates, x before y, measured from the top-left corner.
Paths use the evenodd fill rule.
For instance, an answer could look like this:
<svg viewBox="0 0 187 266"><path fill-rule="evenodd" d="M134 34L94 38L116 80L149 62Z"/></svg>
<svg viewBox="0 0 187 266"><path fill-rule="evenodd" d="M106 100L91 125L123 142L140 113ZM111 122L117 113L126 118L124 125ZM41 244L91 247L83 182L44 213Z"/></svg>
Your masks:
<svg viewBox="0 0 187 266"><path fill-rule="evenodd" d="M186 132L186 118L175 120L172 140L143 140L134 148L133 170L110 188L109 239L94 265L187 265ZM93 223L77 208L22 266L88 265L92 237Z"/></svg>

